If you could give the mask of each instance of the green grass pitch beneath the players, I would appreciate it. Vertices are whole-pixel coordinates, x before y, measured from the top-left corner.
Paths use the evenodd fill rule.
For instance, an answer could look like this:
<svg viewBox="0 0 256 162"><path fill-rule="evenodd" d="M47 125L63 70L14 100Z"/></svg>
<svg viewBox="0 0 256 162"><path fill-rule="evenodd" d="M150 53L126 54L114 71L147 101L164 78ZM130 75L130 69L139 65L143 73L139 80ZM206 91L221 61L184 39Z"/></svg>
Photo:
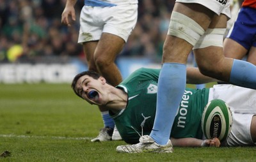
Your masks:
<svg viewBox="0 0 256 162"><path fill-rule="evenodd" d="M0 84L0 161L256 160L256 147L120 154L115 148L123 141L90 142L102 126L98 108L75 96L68 84Z"/></svg>

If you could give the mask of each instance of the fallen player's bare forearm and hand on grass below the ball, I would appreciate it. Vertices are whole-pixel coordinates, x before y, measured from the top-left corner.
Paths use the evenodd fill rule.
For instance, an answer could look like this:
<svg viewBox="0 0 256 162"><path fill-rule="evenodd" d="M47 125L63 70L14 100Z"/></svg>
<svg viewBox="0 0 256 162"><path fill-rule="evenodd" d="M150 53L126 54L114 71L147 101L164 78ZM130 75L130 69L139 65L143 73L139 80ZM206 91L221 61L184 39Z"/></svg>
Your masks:
<svg viewBox="0 0 256 162"><path fill-rule="evenodd" d="M220 140L200 140L197 138L171 138L172 145L177 147L220 147Z"/></svg>

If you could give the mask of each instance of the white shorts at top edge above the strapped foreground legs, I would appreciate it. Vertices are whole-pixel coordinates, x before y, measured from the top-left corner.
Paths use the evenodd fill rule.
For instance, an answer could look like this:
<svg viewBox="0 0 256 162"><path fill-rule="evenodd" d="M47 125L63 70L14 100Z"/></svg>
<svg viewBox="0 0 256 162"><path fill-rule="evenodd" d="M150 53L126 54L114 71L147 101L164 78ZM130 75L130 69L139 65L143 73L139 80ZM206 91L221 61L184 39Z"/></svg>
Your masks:
<svg viewBox="0 0 256 162"><path fill-rule="evenodd" d="M227 0L226 4L223 4L221 0L176 0L177 3L198 3L210 10L214 11L216 14L220 15L223 13L230 18L230 3L231 0Z"/></svg>

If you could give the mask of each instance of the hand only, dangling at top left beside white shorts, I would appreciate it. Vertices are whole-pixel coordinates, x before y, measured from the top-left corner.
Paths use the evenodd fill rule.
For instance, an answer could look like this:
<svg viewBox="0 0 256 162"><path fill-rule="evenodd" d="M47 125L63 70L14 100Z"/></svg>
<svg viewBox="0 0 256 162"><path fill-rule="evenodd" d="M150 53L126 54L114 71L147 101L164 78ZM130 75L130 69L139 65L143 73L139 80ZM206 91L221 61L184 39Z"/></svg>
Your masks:
<svg viewBox="0 0 256 162"><path fill-rule="evenodd" d="M71 17L71 19L70 19ZM61 23L71 26L72 22L76 21L76 13L73 6L66 6L61 14Z"/></svg>

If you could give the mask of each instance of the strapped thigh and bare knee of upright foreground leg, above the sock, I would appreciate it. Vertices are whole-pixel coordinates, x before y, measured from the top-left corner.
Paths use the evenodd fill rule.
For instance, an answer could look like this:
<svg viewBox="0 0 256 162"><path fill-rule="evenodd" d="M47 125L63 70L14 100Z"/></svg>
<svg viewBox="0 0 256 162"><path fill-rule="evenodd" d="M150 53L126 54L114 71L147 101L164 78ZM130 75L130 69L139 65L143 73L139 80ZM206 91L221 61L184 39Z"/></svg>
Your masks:
<svg viewBox="0 0 256 162"><path fill-rule="evenodd" d="M211 23L211 19L214 15L214 12L212 12L208 8L205 8L201 4L179 3L179 1L175 3L173 11L177 13L182 13L182 15L185 15L186 17L189 17L190 19L192 19L191 22L180 22L180 24L194 23L196 27L194 27L193 29L183 29L183 30L171 29L173 30L174 34L172 33L169 34L168 32L168 35L166 36L166 40L164 41L164 47L163 47L163 63L173 62L173 63L186 64L188 55L193 48L193 45L192 45L193 43L189 43L186 40L186 38L182 38L183 35L186 35L186 33L189 33L189 30L194 30L195 33L197 33L197 30L199 30L198 28L200 27L202 28L200 30L205 31L208 28L209 24ZM182 20L183 19L181 19L180 21ZM176 20L171 19L170 25L175 27L175 26L178 26L177 24L179 25L179 22L177 23ZM175 35L175 33L178 33L178 34L180 33L180 36ZM193 36L189 36L189 37L193 37Z"/></svg>

